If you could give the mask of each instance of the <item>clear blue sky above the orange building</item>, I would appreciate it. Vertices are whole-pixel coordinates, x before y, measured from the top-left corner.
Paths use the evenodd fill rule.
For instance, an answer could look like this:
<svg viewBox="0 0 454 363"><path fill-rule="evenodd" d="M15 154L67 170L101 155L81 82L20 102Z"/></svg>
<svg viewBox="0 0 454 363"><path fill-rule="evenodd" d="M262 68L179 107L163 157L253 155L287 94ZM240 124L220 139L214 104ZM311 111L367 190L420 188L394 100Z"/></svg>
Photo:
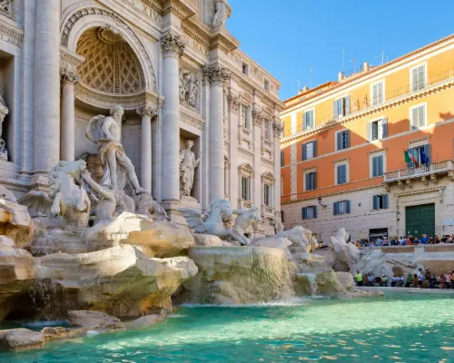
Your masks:
<svg viewBox="0 0 454 363"><path fill-rule="evenodd" d="M249 54L279 81L281 99L336 81L356 56L381 64L454 33L452 0L230 0L227 27ZM386 59L386 58L385 58Z"/></svg>

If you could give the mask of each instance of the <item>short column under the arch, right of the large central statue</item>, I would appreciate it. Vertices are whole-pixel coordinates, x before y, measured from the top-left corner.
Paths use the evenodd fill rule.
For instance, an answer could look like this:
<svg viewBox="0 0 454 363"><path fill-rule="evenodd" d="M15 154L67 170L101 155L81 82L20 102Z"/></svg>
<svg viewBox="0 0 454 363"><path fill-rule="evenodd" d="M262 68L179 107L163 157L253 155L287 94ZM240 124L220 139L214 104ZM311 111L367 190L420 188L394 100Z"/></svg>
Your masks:
<svg viewBox="0 0 454 363"><path fill-rule="evenodd" d="M142 116L141 137L141 185L145 191L152 192L152 119L158 110L151 106L137 109Z"/></svg>

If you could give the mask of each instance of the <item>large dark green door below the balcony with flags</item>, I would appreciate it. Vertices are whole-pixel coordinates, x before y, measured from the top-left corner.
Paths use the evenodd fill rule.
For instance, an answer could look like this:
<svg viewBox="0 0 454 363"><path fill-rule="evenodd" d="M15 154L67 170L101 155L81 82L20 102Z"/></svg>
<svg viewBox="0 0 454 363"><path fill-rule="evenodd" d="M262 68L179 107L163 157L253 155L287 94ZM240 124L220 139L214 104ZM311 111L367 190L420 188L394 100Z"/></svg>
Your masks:
<svg viewBox="0 0 454 363"><path fill-rule="evenodd" d="M416 205L405 209L407 234L435 236L435 204Z"/></svg>

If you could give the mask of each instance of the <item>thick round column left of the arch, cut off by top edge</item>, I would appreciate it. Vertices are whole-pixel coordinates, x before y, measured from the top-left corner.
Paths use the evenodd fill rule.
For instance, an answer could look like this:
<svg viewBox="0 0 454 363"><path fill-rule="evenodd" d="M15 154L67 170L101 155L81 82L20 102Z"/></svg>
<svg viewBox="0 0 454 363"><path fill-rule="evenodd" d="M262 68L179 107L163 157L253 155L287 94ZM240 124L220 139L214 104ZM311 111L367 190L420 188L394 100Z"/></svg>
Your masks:
<svg viewBox="0 0 454 363"><path fill-rule="evenodd" d="M60 159L60 6L36 0L34 172Z"/></svg>

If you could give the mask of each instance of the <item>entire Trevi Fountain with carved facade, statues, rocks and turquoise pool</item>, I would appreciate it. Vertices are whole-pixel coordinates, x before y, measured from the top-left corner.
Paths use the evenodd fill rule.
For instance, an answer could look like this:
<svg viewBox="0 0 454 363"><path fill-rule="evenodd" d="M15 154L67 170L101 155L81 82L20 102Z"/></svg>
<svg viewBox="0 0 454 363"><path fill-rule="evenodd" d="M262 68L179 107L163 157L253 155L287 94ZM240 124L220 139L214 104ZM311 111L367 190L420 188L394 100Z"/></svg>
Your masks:
<svg viewBox="0 0 454 363"><path fill-rule="evenodd" d="M454 359L449 295L355 289L418 262L284 231L227 0L54 4L0 1L1 362Z"/></svg>

